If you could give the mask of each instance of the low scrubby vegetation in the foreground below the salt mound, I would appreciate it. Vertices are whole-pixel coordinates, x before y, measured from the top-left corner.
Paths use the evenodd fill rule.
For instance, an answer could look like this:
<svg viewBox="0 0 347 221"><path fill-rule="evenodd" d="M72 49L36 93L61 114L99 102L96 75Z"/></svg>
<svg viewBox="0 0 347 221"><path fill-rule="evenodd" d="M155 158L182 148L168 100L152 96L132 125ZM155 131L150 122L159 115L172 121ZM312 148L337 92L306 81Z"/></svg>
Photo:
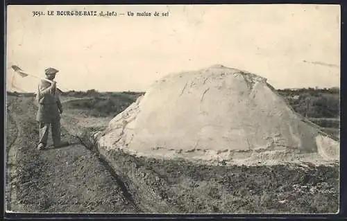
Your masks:
<svg viewBox="0 0 347 221"><path fill-rule="evenodd" d="M338 166L197 166L144 160L176 188L188 213L333 213L338 210Z"/></svg>

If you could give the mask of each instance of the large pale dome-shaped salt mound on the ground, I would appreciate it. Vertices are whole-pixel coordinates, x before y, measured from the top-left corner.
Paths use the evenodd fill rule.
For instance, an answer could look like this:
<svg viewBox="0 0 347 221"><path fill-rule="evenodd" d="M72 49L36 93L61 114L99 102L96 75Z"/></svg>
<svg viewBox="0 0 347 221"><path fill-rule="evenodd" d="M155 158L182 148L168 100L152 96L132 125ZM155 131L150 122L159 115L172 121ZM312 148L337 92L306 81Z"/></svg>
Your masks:
<svg viewBox="0 0 347 221"><path fill-rule="evenodd" d="M157 157L339 159L339 142L296 114L265 78L221 65L155 82L96 139Z"/></svg>

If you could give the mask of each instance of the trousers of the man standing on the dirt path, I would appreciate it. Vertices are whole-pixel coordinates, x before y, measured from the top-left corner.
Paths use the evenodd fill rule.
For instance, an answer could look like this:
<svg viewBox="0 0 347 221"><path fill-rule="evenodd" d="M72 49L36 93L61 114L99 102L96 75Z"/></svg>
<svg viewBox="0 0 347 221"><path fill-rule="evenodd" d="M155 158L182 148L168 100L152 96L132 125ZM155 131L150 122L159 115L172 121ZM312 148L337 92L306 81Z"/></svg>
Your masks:
<svg viewBox="0 0 347 221"><path fill-rule="evenodd" d="M56 121L53 121L53 123L44 123L40 122L40 141L39 143L47 145L48 141L48 134L49 134L49 127L51 126L51 132L52 132L52 139L53 139L53 145L57 146L60 144L60 119L57 119Z"/></svg>

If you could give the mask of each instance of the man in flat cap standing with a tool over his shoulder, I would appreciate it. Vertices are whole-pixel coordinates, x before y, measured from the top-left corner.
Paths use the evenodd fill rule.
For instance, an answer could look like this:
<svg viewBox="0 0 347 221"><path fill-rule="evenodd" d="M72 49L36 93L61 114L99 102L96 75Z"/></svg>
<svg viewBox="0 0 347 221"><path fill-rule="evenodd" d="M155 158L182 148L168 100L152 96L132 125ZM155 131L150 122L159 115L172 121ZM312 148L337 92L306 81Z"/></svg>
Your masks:
<svg viewBox="0 0 347 221"><path fill-rule="evenodd" d="M67 141L62 142L60 140L60 114L62 114L62 103L57 93L56 82L53 81L56 78L57 69L48 68L45 69L46 79L52 81L52 83L41 80L37 88L36 102L38 105L38 111L36 120L39 123L40 141L37 145L38 150L42 150L47 145L49 127L51 126L53 145L55 148L59 148L65 145L69 145Z"/></svg>

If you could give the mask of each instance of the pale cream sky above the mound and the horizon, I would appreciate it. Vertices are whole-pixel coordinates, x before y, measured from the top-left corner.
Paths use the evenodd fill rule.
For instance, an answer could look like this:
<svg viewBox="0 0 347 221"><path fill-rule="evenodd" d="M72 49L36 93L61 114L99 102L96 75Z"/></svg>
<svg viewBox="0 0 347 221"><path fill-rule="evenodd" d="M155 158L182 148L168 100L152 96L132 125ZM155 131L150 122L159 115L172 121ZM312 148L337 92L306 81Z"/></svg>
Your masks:
<svg viewBox="0 0 347 221"><path fill-rule="evenodd" d="M33 10L169 16L33 17ZM339 87L340 6L8 6L7 13L7 63L40 77L59 69L63 89L146 91L169 73L213 64L256 73L277 89ZM12 76L8 69L8 89L19 91ZM35 91L37 79L15 75L15 86Z"/></svg>

